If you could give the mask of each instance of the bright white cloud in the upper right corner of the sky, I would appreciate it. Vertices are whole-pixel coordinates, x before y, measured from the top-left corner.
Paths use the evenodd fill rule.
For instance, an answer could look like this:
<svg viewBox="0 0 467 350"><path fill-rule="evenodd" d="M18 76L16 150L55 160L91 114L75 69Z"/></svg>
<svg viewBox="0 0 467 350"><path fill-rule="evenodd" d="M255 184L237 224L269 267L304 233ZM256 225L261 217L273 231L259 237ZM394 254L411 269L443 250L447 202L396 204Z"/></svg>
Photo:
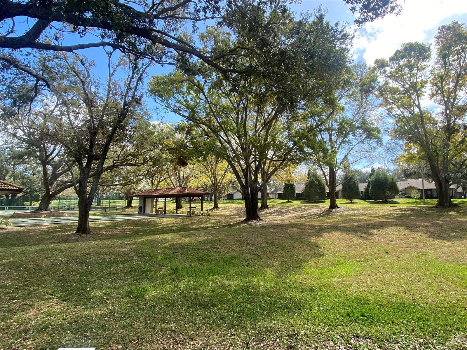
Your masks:
<svg viewBox="0 0 467 350"><path fill-rule="evenodd" d="M467 21L465 0L406 0L403 12L367 23L360 28L354 53L364 50L363 58L373 64L376 58L389 58L404 42L432 42L441 24L453 16Z"/></svg>

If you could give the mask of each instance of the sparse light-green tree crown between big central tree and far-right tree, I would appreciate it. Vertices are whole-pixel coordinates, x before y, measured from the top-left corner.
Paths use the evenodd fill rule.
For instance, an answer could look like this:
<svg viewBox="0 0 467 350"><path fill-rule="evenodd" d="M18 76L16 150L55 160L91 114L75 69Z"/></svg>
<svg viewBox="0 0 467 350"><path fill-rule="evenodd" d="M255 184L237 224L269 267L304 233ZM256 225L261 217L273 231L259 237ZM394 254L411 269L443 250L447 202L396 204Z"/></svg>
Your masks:
<svg viewBox="0 0 467 350"><path fill-rule="evenodd" d="M348 67L334 93L337 104L331 107L311 105L307 111L311 123L319 125L318 140L308 145L313 164L327 176L328 183L339 183L339 170L371 157L382 144L374 91L378 77L365 63ZM333 197L333 194L331 194Z"/></svg>

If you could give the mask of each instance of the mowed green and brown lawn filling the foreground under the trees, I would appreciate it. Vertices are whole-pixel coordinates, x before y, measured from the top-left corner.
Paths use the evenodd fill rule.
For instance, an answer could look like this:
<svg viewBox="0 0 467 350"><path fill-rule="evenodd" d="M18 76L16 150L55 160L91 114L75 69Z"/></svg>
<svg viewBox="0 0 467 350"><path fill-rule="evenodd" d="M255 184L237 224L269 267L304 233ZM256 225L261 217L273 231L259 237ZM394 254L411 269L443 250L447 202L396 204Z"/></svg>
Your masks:
<svg viewBox="0 0 467 350"><path fill-rule="evenodd" d="M1 231L1 348L467 348L467 206L243 215Z"/></svg>

